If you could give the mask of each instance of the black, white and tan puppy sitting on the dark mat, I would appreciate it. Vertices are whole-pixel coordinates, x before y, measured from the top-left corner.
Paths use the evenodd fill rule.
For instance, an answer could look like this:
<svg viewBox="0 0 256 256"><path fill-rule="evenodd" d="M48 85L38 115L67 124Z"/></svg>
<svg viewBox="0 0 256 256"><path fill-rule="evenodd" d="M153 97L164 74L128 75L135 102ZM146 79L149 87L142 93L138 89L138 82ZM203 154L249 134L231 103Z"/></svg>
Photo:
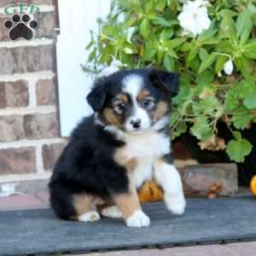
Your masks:
<svg viewBox="0 0 256 256"><path fill-rule="evenodd" d="M49 183L56 215L95 221L102 214L123 217L130 227L148 226L137 189L152 177L168 210L183 214L168 129L177 86L176 73L154 69L119 71L96 81L87 96L95 113L73 131Z"/></svg>

